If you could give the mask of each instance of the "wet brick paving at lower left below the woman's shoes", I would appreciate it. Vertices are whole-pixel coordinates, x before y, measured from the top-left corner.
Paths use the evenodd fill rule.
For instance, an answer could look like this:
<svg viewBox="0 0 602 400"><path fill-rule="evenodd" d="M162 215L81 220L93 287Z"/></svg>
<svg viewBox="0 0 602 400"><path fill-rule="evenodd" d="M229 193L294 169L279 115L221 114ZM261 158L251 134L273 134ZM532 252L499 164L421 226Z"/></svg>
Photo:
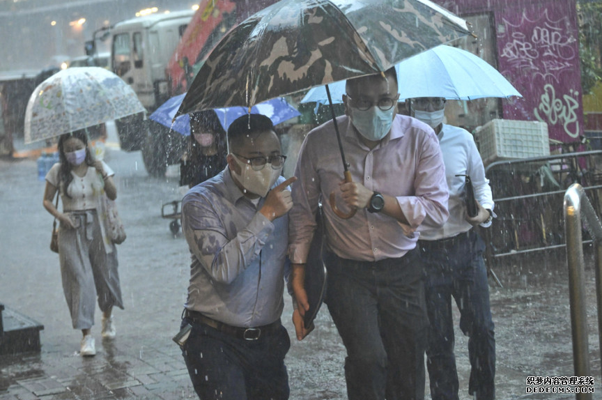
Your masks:
<svg viewBox="0 0 602 400"><path fill-rule="evenodd" d="M194 399L178 346L97 343L95 357L46 353L0 359L0 399Z"/></svg>

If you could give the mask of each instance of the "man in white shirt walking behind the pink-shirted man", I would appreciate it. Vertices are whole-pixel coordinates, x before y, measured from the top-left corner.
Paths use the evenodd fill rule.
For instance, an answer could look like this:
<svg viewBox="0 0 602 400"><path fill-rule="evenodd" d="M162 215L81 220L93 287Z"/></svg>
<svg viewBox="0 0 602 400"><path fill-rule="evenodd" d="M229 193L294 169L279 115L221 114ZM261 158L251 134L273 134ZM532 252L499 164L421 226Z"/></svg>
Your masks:
<svg viewBox="0 0 602 400"><path fill-rule="evenodd" d="M493 198L472 134L443 123L444 98L415 98L410 115L431 125L439 139L449 187L449 219L440 229L421 231L420 260L426 275L429 338L426 349L431 398L458 400L451 298L460 310L460 328L469 337L468 392L477 400L495 399L495 339L489 307L485 244L472 226L491 226ZM470 176L477 215L468 216L465 176Z"/></svg>

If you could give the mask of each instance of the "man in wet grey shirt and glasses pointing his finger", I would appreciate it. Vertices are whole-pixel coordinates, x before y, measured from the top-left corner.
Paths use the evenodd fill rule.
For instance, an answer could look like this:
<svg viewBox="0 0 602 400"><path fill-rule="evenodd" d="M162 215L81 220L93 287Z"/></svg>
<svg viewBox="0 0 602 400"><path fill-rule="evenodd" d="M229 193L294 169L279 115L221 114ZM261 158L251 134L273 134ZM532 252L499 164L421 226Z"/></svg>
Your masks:
<svg viewBox="0 0 602 400"><path fill-rule="evenodd" d="M281 325L288 276L286 156L270 118L251 114L228 129L228 166L182 201L192 252L182 328L194 390L203 400L288 399Z"/></svg>

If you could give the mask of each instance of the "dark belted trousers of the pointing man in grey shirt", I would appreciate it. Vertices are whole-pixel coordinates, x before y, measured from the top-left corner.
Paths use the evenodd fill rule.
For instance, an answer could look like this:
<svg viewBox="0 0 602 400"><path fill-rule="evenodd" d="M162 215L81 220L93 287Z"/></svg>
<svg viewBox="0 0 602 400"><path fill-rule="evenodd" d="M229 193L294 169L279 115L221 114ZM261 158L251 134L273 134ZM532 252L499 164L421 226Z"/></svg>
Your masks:
<svg viewBox="0 0 602 400"><path fill-rule="evenodd" d="M182 354L201 400L286 400L290 392L284 356L291 347L281 326L257 340L220 332L189 318L192 325Z"/></svg>

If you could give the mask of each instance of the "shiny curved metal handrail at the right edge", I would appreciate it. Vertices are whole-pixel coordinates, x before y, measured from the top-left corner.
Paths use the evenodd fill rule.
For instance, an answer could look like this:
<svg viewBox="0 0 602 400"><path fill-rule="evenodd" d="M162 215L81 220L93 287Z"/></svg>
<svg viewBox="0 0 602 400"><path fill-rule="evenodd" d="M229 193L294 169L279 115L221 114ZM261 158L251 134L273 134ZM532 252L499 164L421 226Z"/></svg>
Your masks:
<svg viewBox="0 0 602 400"><path fill-rule="evenodd" d="M587 339L587 312L585 305L585 261L583 259L582 221L593 238L596 263L596 300L598 306L598 339L602 351L602 224L583 187L571 185L564 194L564 230L566 235L566 263L569 267L569 297L571 301L571 332L573 334L573 364L575 376L591 376L589 369L589 342ZM577 400L591 400L592 394L577 393Z"/></svg>

